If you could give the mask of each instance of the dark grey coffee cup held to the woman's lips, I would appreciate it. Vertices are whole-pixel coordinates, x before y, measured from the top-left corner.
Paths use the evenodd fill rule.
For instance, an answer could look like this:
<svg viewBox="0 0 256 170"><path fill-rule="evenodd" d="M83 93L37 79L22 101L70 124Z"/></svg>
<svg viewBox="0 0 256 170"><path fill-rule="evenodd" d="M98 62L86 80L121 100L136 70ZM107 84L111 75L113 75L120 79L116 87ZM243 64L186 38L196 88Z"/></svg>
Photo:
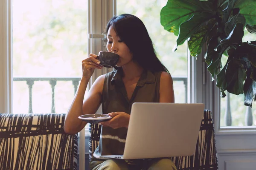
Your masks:
<svg viewBox="0 0 256 170"><path fill-rule="evenodd" d="M116 66L119 55L109 51L99 51L98 59L103 67L112 68Z"/></svg>

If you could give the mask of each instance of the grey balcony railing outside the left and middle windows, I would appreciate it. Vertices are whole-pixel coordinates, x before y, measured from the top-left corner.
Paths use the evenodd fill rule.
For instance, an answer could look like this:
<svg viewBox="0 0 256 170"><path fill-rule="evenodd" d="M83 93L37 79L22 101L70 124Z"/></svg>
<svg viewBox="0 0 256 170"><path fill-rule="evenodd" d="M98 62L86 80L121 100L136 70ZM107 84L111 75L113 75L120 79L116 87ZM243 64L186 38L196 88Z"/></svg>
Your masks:
<svg viewBox="0 0 256 170"><path fill-rule="evenodd" d="M26 81L26 84L29 88L29 112L33 113L32 110L32 88L35 81L48 81L52 88L52 106L51 106L51 113L55 113L55 85L57 84L57 81L72 81L73 82L73 88L74 88L74 94L76 94L79 81L81 78L79 77L14 77L13 81ZM172 77L173 81L182 81L185 86L185 102L187 102L187 77Z"/></svg>

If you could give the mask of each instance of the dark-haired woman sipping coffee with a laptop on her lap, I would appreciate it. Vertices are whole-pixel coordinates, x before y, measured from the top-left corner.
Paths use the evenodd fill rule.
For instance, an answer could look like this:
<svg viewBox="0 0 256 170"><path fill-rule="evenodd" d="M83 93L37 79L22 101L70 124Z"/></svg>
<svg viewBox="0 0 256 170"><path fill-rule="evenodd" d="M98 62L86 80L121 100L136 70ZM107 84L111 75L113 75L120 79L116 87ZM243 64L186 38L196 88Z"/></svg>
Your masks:
<svg viewBox="0 0 256 170"><path fill-rule="evenodd" d="M102 155L123 154L131 105L134 102L174 102L172 77L157 58L153 43L143 22L131 14L113 17L107 25L107 49L119 54L116 70L99 76L88 94L85 89L95 69L102 69L95 54L82 61L83 76L64 123L66 133L76 134L86 122L83 114L102 113L112 119L102 122L99 147L93 154L90 168L176 170L170 159L124 161L102 159Z"/></svg>

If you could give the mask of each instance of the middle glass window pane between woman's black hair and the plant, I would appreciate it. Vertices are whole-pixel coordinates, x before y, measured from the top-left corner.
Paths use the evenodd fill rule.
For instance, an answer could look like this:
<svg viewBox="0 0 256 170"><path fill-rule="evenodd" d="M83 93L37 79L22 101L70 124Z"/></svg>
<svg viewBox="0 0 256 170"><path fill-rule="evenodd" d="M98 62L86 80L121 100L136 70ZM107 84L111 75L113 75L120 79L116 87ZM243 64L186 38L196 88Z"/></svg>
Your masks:
<svg viewBox="0 0 256 170"><path fill-rule="evenodd" d="M159 59L169 70L174 79L175 102L187 101L187 42L172 49L176 45L177 37L160 24L160 11L168 0L117 0L117 14L134 14L145 24L154 42Z"/></svg>

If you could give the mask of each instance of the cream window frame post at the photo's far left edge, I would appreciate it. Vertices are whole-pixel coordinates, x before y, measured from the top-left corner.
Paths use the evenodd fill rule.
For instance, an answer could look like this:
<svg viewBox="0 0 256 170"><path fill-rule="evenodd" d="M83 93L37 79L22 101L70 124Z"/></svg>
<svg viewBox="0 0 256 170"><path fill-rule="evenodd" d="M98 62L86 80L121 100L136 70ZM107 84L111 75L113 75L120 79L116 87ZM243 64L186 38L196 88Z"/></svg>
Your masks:
<svg viewBox="0 0 256 170"><path fill-rule="evenodd" d="M0 0L0 113L12 113L12 1Z"/></svg>

